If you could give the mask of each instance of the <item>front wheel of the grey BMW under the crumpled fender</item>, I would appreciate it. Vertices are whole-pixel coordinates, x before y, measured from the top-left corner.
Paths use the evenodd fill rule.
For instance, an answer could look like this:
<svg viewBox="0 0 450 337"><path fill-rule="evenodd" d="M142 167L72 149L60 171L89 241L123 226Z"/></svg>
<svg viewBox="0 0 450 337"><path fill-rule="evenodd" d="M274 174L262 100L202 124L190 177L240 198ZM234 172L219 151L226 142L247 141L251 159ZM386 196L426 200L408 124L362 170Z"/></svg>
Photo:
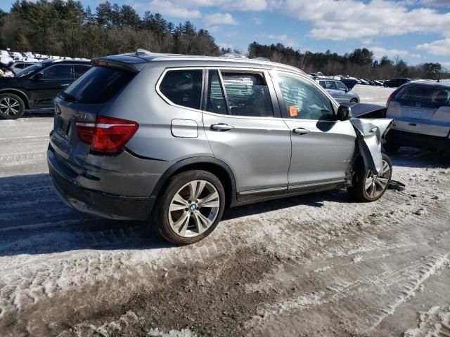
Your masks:
<svg viewBox="0 0 450 337"><path fill-rule="evenodd" d="M356 170L352 187L348 187L349 194L359 201L369 202L380 199L385 194L392 177L392 162L386 154L382 154L382 171L374 176L366 170L362 160L356 162Z"/></svg>

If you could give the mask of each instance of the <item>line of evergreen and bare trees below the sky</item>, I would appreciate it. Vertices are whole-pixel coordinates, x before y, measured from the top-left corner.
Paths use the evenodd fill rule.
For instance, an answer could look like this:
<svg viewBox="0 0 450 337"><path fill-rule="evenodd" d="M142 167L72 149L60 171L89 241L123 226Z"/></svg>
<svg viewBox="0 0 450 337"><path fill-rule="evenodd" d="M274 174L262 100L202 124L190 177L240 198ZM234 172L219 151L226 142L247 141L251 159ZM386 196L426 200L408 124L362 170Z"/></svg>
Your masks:
<svg viewBox="0 0 450 337"><path fill-rule="evenodd" d="M72 58L95 58L137 48L190 55L240 53L219 48L207 29L197 29L190 21L174 25L160 13L146 11L141 16L127 4L119 6L105 1L93 10L74 0L16 0L8 13L0 10L0 48ZM267 46L253 42L247 54L250 58L264 57L293 65L305 72L360 78L436 79L442 72L439 63L411 66L399 57L391 60L387 56L375 60L367 48L338 55L330 51L302 53L283 44ZM449 73L441 76L449 77Z"/></svg>

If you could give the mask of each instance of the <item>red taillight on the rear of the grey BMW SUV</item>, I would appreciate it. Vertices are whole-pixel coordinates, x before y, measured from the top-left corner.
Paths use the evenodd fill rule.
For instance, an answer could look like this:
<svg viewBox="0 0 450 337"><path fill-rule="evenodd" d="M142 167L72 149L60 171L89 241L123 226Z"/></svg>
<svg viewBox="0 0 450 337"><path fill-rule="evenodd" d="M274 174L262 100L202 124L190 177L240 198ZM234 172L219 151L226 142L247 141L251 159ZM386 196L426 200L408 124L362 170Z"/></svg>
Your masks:
<svg viewBox="0 0 450 337"><path fill-rule="evenodd" d="M95 123L77 122L79 140L90 144L93 152L119 152L138 128L136 121L104 116L98 116Z"/></svg>

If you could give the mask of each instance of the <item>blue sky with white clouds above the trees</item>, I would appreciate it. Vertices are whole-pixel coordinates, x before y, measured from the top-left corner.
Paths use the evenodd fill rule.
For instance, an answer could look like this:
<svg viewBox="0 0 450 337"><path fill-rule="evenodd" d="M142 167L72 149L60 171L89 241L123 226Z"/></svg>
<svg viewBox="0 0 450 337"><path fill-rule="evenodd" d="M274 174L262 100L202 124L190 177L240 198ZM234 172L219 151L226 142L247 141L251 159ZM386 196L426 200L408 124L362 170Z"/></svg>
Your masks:
<svg viewBox="0 0 450 337"><path fill-rule="evenodd" d="M95 10L99 0L82 0ZM375 57L450 69L450 0L110 0L138 13L207 28L220 46L245 51L252 41L300 51L346 53L363 46ZM8 11L13 1L0 0Z"/></svg>

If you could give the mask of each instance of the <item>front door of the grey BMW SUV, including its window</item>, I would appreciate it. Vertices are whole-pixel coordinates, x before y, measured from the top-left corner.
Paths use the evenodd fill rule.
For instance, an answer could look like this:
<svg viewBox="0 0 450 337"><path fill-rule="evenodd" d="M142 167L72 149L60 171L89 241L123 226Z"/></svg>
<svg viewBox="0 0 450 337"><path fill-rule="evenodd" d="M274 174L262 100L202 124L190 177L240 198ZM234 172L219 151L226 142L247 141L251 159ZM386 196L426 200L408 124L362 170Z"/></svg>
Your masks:
<svg viewBox="0 0 450 337"><path fill-rule="evenodd" d="M352 124L336 121L330 99L309 80L283 72L274 80L293 145L289 189L342 183L356 145Z"/></svg>

